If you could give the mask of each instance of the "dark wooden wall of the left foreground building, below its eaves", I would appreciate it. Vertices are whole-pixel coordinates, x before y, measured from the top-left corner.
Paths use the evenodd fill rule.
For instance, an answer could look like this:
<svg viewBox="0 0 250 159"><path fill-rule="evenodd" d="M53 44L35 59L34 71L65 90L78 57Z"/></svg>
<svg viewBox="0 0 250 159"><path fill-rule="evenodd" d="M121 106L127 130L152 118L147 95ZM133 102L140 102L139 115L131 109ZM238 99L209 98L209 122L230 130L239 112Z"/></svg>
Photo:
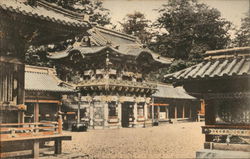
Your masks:
<svg viewBox="0 0 250 159"><path fill-rule="evenodd" d="M0 56L0 123L17 122L18 106L22 104L24 64L14 58Z"/></svg>

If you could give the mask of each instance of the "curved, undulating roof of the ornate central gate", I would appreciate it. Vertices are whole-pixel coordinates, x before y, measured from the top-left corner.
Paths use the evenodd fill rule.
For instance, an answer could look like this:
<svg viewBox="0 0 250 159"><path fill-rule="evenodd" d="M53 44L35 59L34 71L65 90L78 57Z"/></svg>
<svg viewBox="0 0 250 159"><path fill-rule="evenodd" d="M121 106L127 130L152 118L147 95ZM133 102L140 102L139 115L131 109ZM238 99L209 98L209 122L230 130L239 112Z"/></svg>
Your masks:
<svg viewBox="0 0 250 159"><path fill-rule="evenodd" d="M48 58L61 59L68 57L70 53L80 52L82 57L95 53L100 53L105 49L110 49L115 53L124 56L131 56L135 59L143 54L148 54L158 63L170 64L172 59L165 58L142 46L134 36L109 30L103 27L94 27L89 31L90 39L94 46L73 46L60 52L51 53ZM112 52L111 52L112 53Z"/></svg>

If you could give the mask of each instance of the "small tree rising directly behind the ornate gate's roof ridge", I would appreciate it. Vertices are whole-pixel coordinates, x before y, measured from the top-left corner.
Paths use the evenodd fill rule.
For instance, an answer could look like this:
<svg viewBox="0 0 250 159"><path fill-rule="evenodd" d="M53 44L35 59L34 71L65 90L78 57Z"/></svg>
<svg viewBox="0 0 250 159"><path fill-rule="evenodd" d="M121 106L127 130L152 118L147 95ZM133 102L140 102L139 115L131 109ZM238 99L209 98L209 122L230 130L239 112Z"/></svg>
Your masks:
<svg viewBox="0 0 250 159"><path fill-rule="evenodd" d="M152 37L149 32L150 20L141 12L127 14L120 24L124 33L137 36L142 43L148 43Z"/></svg>

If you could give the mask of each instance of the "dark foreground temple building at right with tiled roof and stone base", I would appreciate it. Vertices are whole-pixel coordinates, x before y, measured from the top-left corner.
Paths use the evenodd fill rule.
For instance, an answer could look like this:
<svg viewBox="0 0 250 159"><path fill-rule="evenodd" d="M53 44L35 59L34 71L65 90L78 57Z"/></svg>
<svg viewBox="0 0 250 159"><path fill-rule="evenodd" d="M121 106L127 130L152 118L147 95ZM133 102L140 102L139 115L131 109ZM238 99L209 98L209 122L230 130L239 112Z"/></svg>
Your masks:
<svg viewBox="0 0 250 159"><path fill-rule="evenodd" d="M205 102L198 158L249 158L250 47L207 51L204 61L165 76Z"/></svg>

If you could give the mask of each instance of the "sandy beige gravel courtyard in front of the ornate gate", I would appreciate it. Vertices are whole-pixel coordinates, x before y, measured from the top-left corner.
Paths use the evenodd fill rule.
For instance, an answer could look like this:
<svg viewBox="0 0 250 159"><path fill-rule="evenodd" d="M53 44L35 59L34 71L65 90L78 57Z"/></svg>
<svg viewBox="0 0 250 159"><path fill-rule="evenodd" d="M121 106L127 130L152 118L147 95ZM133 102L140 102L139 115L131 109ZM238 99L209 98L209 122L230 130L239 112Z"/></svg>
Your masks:
<svg viewBox="0 0 250 159"><path fill-rule="evenodd" d="M62 158L66 154L75 154L71 158L194 158L195 151L203 147L202 125L202 122L191 122L64 132L73 139L63 142Z"/></svg>

